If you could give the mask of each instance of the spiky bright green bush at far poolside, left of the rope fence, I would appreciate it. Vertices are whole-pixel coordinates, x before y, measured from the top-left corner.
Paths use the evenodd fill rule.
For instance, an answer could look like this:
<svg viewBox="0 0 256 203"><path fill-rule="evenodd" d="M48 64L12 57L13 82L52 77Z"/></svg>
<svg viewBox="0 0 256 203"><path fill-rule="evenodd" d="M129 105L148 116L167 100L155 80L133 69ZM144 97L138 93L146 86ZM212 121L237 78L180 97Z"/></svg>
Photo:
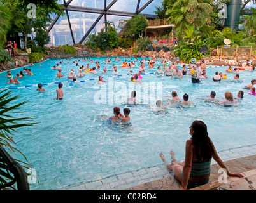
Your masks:
<svg viewBox="0 0 256 203"><path fill-rule="evenodd" d="M199 60L203 56L199 51L203 45L206 45L206 41L197 37L194 39L193 43L180 41L177 46L174 46L171 49L171 51L176 57L180 57L180 60L190 63L192 58Z"/></svg>

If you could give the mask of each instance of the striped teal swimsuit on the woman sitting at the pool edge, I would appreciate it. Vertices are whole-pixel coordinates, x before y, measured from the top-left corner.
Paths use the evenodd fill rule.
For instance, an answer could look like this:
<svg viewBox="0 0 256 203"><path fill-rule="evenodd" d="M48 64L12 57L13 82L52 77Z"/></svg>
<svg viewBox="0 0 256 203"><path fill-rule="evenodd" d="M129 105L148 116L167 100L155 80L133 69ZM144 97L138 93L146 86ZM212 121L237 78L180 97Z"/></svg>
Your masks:
<svg viewBox="0 0 256 203"><path fill-rule="evenodd" d="M191 178L201 178L205 176L209 176L211 173L211 159L209 161L199 162L198 160L192 160L192 168L190 171ZM182 171L183 176L183 171ZM190 182L188 181L188 187L199 187L200 185L204 185L208 183L209 178L203 181Z"/></svg>

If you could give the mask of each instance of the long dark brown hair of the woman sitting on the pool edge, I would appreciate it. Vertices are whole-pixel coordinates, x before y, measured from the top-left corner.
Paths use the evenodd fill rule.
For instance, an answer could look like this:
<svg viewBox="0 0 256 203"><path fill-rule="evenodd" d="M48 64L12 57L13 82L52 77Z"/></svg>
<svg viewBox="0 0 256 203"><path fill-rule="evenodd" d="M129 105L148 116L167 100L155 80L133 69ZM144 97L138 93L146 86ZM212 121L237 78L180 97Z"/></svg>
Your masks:
<svg viewBox="0 0 256 203"><path fill-rule="evenodd" d="M192 122L192 129L194 133L190 139L194 145L197 159L199 161L209 161L214 150L208 136L206 124L203 121L194 121Z"/></svg>

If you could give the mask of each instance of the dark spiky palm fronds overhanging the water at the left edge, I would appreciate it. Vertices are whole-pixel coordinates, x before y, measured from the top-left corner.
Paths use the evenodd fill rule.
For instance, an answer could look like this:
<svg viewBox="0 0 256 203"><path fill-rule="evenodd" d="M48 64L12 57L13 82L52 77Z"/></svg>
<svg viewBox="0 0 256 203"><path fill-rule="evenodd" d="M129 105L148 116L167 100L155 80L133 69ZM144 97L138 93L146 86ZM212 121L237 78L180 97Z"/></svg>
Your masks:
<svg viewBox="0 0 256 203"><path fill-rule="evenodd" d="M24 101L22 103L18 103L15 105L11 105L12 101L15 101L19 98L19 95L12 96L11 91L1 91L0 92L0 145L10 150L11 152L20 152L17 148L13 147L12 145L15 144L15 141L13 141L13 132L16 132L18 128L24 127L24 126L32 126L35 123L24 123L24 121L31 121L31 117L15 117L13 116L13 111L15 110L15 115L18 114L17 110L20 109L22 105L27 103L28 101ZM23 122L23 123L19 123ZM25 155L22 154L25 158ZM16 160L21 165L23 165L25 168L29 168L28 160L25 158L25 161L23 162L21 160ZM1 185L11 183L15 181L13 174L10 173L10 169L7 165L7 163L0 157L0 183ZM8 188L4 188L3 190L16 190L15 187L9 186Z"/></svg>

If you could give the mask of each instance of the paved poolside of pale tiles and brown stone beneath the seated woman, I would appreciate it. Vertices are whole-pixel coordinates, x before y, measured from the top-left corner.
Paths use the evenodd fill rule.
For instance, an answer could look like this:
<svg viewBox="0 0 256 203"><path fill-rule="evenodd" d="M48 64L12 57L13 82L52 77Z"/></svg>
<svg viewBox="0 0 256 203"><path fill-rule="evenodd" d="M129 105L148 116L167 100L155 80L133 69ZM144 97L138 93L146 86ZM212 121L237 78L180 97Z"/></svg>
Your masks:
<svg viewBox="0 0 256 203"><path fill-rule="evenodd" d="M220 167L213 160L211 162L209 181L211 185L204 187L204 189L232 190L229 183L236 181L234 184L232 183L234 189L240 190L241 185L243 185L242 188L248 188L250 190L251 187L251 190L253 190L252 185L256 184L256 170L254 170L256 169L256 145L225 150L218 152L218 155L225 162L229 171L237 173L248 171L245 173L246 177L239 178L239 180L237 178L228 178L226 185L218 184L217 180L220 176L218 169ZM250 177L248 177L249 175ZM248 185L248 178L250 178L249 182L252 182L250 186ZM138 171L117 174L92 182L69 185L68 187L59 188L59 190L178 190L179 188L180 183L174 178L173 173L167 171L166 166L162 164L160 166L139 169ZM254 186L254 190L255 188ZM203 190L203 188L197 188L197 190Z"/></svg>

